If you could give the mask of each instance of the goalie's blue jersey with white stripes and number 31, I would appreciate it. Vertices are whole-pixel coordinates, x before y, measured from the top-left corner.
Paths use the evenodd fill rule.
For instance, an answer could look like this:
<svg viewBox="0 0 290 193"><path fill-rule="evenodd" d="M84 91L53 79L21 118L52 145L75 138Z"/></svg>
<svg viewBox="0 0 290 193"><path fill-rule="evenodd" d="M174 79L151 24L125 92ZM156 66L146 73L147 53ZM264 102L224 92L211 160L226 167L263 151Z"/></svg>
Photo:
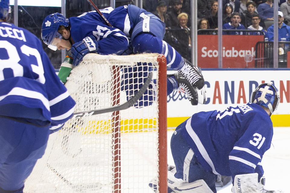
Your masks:
<svg viewBox="0 0 290 193"><path fill-rule="evenodd" d="M270 148L273 126L261 106L247 103L224 112L198 112L180 126L185 141L208 172L233 178L255 172L263 176L261 160Z"/></svg>

